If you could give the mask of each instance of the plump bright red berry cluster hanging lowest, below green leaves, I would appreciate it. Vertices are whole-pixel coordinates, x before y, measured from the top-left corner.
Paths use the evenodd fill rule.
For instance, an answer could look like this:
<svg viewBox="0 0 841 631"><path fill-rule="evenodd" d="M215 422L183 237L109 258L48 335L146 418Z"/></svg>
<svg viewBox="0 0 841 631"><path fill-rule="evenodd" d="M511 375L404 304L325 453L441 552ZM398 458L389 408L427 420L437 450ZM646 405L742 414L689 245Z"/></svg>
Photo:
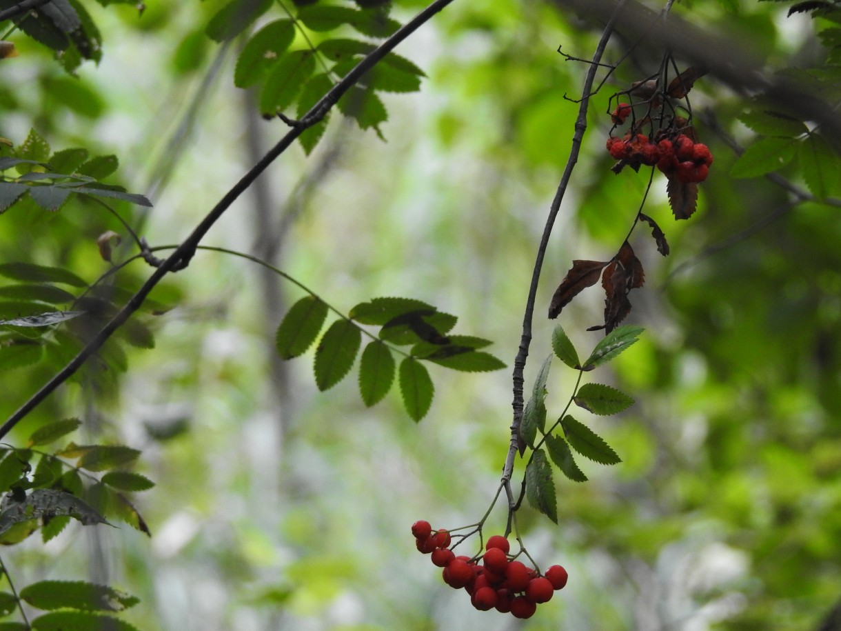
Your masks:
<svg viewBox="0 0 841 631"><path fill-rule="evenodd" d="M412 534L417 549L431 554L432 563L444 569L444 582L453 589L463 587L480 611L496 609L516 618L531 618L538 604L548 602L555 590L567 584L567 570L560 565L539 575L521 561L510 559L510 545L502 535L490 537L484 554L471 558L456 556L449 549L450 533L433 531L429 522L413 523Z"/></svg>

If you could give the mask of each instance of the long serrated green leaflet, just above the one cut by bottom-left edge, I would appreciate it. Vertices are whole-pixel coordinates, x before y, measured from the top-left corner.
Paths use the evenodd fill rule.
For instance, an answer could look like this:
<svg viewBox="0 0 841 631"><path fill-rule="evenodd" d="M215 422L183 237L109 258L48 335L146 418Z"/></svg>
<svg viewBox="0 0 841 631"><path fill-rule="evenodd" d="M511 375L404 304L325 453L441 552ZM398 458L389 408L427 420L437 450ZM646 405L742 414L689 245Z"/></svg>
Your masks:
<svg viewBox="0 0 841 631"><path fill-rule="evenodd" d="M64 607L83 611L121 612L140 599L113 587L84 581L40 581L24 587L20 597L32 607L51 611Z"/></svg>

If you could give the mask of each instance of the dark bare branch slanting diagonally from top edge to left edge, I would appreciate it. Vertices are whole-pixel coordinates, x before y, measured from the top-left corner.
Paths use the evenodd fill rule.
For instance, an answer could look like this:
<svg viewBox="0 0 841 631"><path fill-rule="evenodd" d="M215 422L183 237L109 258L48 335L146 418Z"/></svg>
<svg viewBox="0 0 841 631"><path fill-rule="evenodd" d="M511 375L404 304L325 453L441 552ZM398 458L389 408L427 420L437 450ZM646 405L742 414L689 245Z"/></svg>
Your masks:
<svg viewBox="0 0 841 631"><path fill-rule="evenodd" d="M96 353L109 337L114 335L114 331L117 331L120 326L123 326L125 321L127 321L136 310L140 309L140 305L143 304L146 296L151 293L151 290L161 282L167 273L187 267L190 259L196 252L198 244L202 241L210 228L213 227L220 217L225 214L225 211L230 208L230 205L233 204L235 200L251 186L251 183L253 183L254 180L256 180L257 177L278 158L278 156L283 154L283 151L286 151L289 146L292 146L292 143L298 139L298 136L301 135L304 130L308 129L312 125L315 125L321 119L324 119L325 114L330 111L333 105L338 102L339 98L341 98L341 96L346 93L360 79L360 77L371 70L373 66L376 66L378 62L381 61L384 56L388 55L391 50L394 50L400 42L409 37L410 34L414 33L415 30L421 27L421 25L426 24L433 15L441 11L450 3L452 3L452 0L435 0L435 2L423 9L421 13L418 13L413 19L397 29L388 40L383 41L383 43L375 50L372 50L368 56L365 56L365 58L363 58L351 72L347 73L346 77L336 83L336 85L333 86L318 103L315 103L313 108L310 109L304 118L299 121L299 125L295 125L292 129L288 130L287 134L283 136L283 139L279 141L277 145L273 146L272 149L262 157L262 160L257 162L254 167L251 167L251 170L248 171L239 182L235 183L233 188L231 188L230 191L228 191L228 193L220 199L219 203L210 210L208 215L206 215L201 222L199 222L193 232L184 241L182 241L182 244L177 247L176 251L172 252L170 257L161 262L161 266L156 268L155 272L151 274L145 284L143 284L143 286L137 290L135 295L130 298L124 307L119 310L116 315L114 315L114 318L112 318L108 324L103 326L102 330L99 331L96 337L93 337L93 339L88 342L84 348L82 348L82 351L80 351L70 363L61 369L58 374L44 384L34 395L29 397L29 400L27 400L18 411L14 412L12 416L9 416L8 421L3 423L3 427L0 427L0 438L3 438L6 434L8 434L8 432L10 432L12 428L22 419L24 419L30 411L33 411L41 401L45 400L47 396L53 392L53 390L56 390L56 388L63 384L67 379L70 379L71 375L76 373L76 371L82 367L82 364L85 363L87 359L93 355L93 353Z"/></svg>

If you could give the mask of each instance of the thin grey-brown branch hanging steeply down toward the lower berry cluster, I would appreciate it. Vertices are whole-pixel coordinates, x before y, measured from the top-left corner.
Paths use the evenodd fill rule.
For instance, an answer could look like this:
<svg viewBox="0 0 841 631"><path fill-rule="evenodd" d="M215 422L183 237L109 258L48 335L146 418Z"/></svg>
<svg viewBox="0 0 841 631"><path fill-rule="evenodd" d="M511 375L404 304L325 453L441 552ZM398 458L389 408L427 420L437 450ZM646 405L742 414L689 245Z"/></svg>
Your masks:
<svg viewBox="0 0 841 631"><path fill-rule="evenodd" d="M555 218L558 216L558 211L563 201L563 195L566 193L569 186L569 179L572 176L573 169L576 162L578 162L579 151L581 149L581 141L584 138L584 131L587 129L587 109L590 107L590 92L593 89L595 82L595 73L599 69L599 62L602 55L604 55L608 40L611 39L614 26L619 19L622 9L625 7L627 0L621 0L616 7L616 11L611 15L611 19L601 34L599 45L596 47L593 60L590 63L590 68L587 71L587 77L584 79L584 87L581 90L583 97L579 105L578 119L575 121L575 134L573 136L572 149L569 151L569 158L567 165L563 170L561 182L558 184L558 191L555 194L555 199L549 208L549 215L546 220L546 225L543 229L543 236L540 241L540 246L537 248L537 260L534 264L534 271L532 273L532 284L529 287L528 299L526 300L526 313L523 315L523 330L520 338L520 348L514 360L514 374L512 381L514 384L514 400L511 406L514 408L514 422L511 423L511 441L508 448L508 456L505 459L505 468L503 469L502 479L510 480L511 474L514 470L514 459L518 448L520 446L520 423L523 414L523 372L526 369L526 359L528 358L529 345L532 342L532 316L534 315L534 304L537 298L537 284L540 280L540 273L543 267L543 258L546 255L546 249L549 243L549 236L552 234ZM2 434L0 434L2 436Z"/></svg>

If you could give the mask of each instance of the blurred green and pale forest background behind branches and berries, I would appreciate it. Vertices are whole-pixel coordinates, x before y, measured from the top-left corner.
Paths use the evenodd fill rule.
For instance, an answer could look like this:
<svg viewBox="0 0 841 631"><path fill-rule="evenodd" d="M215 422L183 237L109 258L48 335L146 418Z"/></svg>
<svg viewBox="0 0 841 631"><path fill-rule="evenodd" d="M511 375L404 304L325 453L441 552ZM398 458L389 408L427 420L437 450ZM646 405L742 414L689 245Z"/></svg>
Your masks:
<svg viewBox="0 0 841 631"><path fill-rule="evenodd" d="M288 130L262 119L258 91L234 85L247 34L283 17L284 5L219 44L207 30L224 2L102 4L83 3L102 59L82 62L76 76L19 31L5 38L19 56L0 61L0 135L19 148L35 130L53 151L118 156L106 181L154 206L107 201L152 247L177 244ZM801 5L812 6L789 14L791 3L696 0L671 9L738 42L763 77L820 83L837 111L837 3ZM423 6L395 3L392 17L405 23ZM116 521L71 523L47 543L35 533L0 554L13 583L118 587L140 598L120 618L146 630L841 628L841 161L832 149L841 141L805 115L776 126L746 118L761 109L747 71L744 86L738 73L713 70L693 87L696 134L715 162L688 220L672 220L655 172L643 210L664 230L669 256L644 225L630 241L646 278L625 323L646 331L600 379L636 403L586 417L621 463L579 458L589 481L558 476L558 525L527 505L519 512L532 555L563 564L569 585L519 622L474 611L415 551L412 522L476 522L499 485L526 294L569 156L579 112L571 99L590 67L569 56L592 56L610 14L602 6L452 3L397 49L425 73L420 92L379 93L388 119L377 130L331 115L309 155L293 146L203 241L270 262L345 313L377 296L429 302L458 315L455 332L493 340L507 369L431 365L435 396L421 422L397 387L365 406L357 369L320 393L314 350L283 362L274 343L306 294L254 262L199 251L156 290L134 337L124 336L130 343L4 439L24 448L39 427L77 417L82 427L61 446L142 450L133 470L156 485L131 501L152 537ZM537 292L527 388L552 353L555 322L544 315L571 261L612 257L646 191L648 176L611 172L605 150L611 96L656 72L663 55L653 31L635 29L620 25L602 60L623 64L590 102ZM66 269L88 283L112 265L103 244L114 262L137 252L123 222L81 197L58 211L21 198L0 225L0 263ZM108 231L122 243L98 243ZM135 261L119 286L136 288L149 273ZM6 280L10 320L22 315L21 295L19 278ZM587 331L603 308L594 288L563 310L558 321L579 350L604 337ZM77 348L18 353L10 341L20 327L4 330L8 418ZM574 384L556 364L550 416ZM518 459L515 480L522 469ZM496 506L489 532L505 518Z"/></svg>

